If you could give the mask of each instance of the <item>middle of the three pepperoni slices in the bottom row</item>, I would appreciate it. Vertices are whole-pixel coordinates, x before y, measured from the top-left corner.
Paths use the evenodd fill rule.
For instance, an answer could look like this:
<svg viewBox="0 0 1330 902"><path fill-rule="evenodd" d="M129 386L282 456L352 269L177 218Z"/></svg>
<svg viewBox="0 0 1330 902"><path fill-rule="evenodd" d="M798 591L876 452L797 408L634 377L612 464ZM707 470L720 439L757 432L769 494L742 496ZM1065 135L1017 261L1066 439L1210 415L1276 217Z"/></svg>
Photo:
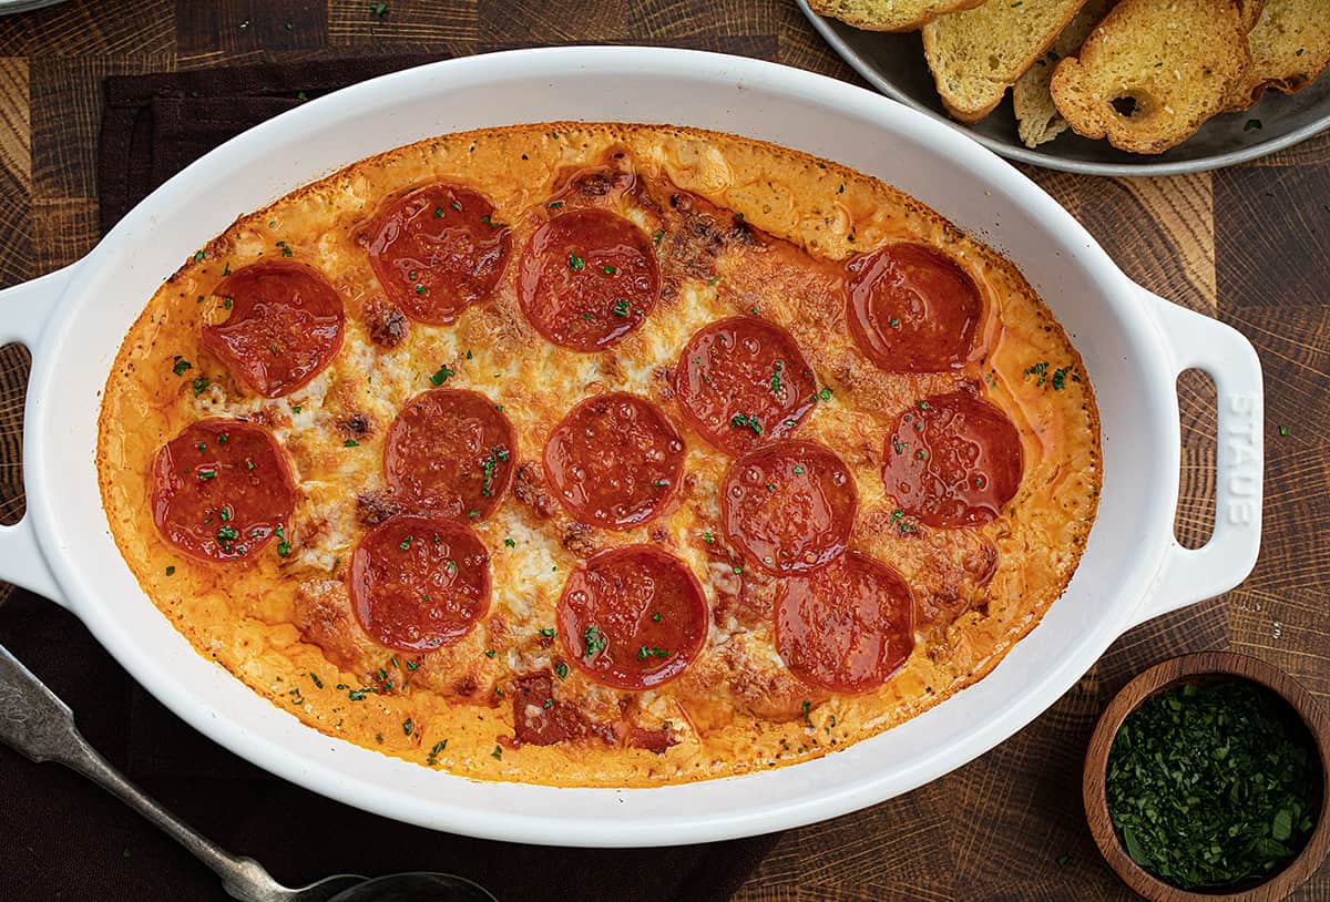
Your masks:
<svg viewBox="0 0 1330 902"><path fill-rule="evenodd" d="M684 672L706 641L709 613L693 571L650 545L604 551L559 599L568 659L617 689L652 689Z"/></svg>

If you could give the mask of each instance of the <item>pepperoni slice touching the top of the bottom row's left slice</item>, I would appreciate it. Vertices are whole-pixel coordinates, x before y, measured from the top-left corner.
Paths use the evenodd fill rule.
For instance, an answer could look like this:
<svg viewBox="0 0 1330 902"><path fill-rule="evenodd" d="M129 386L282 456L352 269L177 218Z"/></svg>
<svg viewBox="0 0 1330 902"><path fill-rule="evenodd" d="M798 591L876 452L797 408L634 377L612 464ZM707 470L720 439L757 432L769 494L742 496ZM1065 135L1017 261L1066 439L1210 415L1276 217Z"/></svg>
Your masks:
<svg viewBox="0 0 1330 902"><path fill-rule="evenodd" d="M512 482L512 423L477 391L430 388L388 428L383 472L394 492L431 512L483 520Z"/></svg>

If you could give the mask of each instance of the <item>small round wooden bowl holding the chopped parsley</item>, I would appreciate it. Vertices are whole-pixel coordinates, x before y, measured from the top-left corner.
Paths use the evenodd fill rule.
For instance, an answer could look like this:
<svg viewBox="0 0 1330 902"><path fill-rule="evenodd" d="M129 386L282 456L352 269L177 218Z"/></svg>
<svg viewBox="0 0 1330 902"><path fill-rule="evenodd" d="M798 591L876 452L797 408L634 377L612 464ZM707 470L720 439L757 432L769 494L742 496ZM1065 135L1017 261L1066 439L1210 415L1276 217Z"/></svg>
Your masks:
<svg viewBox="0 0 1330 902"><path fill-rule="evenodd" d="M1319 756L1319 784L1313 788L1317 806L1315 826L1306 845L1279 870L1261 881L1246 881L1218 891L1182 890L1165 883L1132 861L1117 839L1108 816L1107 780L1108 750L1117 728L1150 696L1176 685L1197 685L1246 680L1270 689L1283 698L1302 718ZM1152 667L1128 682L1099 718L1089 749L1085 752L1085 774L1081 780L1085 817L1099 850L1109 866L1129 887L1152 902L1277 902L1303 883L1330 849L1330 716L1317 708L1315 700L1297 680L1264 661L1230 652L1184 655Z"/></svg>

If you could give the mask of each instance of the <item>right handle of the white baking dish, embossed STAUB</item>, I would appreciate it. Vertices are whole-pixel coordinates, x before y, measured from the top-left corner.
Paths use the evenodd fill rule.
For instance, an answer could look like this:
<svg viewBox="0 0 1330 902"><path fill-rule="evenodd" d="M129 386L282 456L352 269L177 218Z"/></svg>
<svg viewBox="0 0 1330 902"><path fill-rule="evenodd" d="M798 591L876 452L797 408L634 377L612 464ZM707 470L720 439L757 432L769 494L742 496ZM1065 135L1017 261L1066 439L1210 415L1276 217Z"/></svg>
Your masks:
<svg viewBox="0 0 1330 902"><path fill-rule="evenodd" d="M1173 373L1196 369L1214 380L1218 447L1214 532L1194 549L1173 539L1132 625L1228 592L1252 572L1261 549L1265 419L1261 361L1252 342L1217 319L1140 291L1160 325Z"/></svg>

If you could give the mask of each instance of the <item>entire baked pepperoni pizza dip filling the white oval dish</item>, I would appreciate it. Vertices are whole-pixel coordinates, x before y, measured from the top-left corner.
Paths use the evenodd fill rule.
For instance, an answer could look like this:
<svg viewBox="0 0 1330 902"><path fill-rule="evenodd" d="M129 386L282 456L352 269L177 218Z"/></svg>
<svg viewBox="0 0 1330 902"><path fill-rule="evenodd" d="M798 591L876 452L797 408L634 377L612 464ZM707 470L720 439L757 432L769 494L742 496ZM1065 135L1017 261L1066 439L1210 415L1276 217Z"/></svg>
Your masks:
<svg viewBox="0 0 1330 902"><path fill-rule="evenodd" d="M485 780L791 764L979 680L1095 518L1020 273L833 162L547 124L238 220L105 387L110 529L197 651Z"/></svg>

